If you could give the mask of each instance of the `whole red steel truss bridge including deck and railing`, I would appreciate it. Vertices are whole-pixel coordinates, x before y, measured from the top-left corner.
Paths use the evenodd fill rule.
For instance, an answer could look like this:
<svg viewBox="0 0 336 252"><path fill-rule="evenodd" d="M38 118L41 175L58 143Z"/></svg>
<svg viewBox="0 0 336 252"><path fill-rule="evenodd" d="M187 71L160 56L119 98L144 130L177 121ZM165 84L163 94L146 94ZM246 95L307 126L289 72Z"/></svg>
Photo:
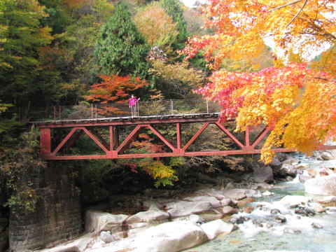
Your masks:
<svg viewBox="0 0 336 252"><path fill-rule="evenodd" d="M218 121L220 108L201 99L139 102L137 114L131 115L128 104L82 104L78 106L46 109L49 116L58 120L37 121L33 124L40 131L41 157L45 160L90 160L113 158L159 158L202 155L257 154L262 141L271 131L269 127L249 127L245 132L232 132L230 120ZM188 112L192 113L188 113ZM153 115L156 114L156 115ZM48 119L48 118L47 118ZM198 127L193 127L197 125ZM169 133L165 130L169 127ZM210 129L209 129L210 128ZM162 130L163 129L163 130ZM197 150L197 140L205 130L215 132L213 138L228 137L234 149ZM139 153L134 142L141 133L160 139L162 150L158 153ZM174 134L172 134L174 132ZM188 134L188 139L183 138ZM92 140L96 149L92 153L80 153L76 146L80 137ZM184 140L183 140L184 139ZM207 139L211 141L211 139ZM72 148L76 146L73 153ZM333 149L336 146L321 146ZM274 148L274 152L291 152L294 149Z"/></svg>

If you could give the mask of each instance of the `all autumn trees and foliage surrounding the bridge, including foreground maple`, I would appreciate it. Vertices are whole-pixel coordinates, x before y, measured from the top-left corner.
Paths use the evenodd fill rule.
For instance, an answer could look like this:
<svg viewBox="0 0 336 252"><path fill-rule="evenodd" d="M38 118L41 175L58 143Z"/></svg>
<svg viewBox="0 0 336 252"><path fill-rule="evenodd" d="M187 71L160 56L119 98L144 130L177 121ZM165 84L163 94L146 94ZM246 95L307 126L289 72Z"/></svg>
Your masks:
<svg viewBox="0 0 336 252"><path fill-rule="evenodd" d="M34 191L29 181L21 181L20 185L18 181L28 167L44 167L45 163L38 160L38 136L34 129L31 134L22 135L22 132L27 132L29 120L43 117L40 112L50 106L127 102L130 94L141 97L141 101L160 104L162 99L190 99L202 94L221 104L222 120L237 117L240 130L260 123L276 127L267 141L267 148L283 144L308 151L314 148L316 142L306 141L307 137L295 131L303 128L305 131L302 132L307 134L311 127L302 125L308 125L309 120L321 123L314 134L309 134L312 136L309 139L316 136L321 137L320 140L327 139L330 128L335 127L335 111L332 111L335 107L329 106L331 109L325 113L328 123L323 116L314 117L314 114L321 106L328 105L330 97L325 94L335 92L335 88L329 88L330 85L320 88L325 87L323 78L328 78L330 83L330 76L335 74L335 45L332 44L335 42L332 32L335 31L331 30L331 35L325 34L324 37L323 34L316 35L321 38L321 43L325 38L324 41L334 45L311 62L312 68L328 72L328 75L318 73L316 77L315 72L304 64L285 66L288 62L307 61L302 50L288 45L287 42L295 37L275 36L276 43L283 45L285 50L283 59L276 57L276 53L262 41L262 36L275 32L274 20L279 18L279 13L274 14L273 21L264 22L262 15L266 15L265 11L260 11L264 7L254 3L249 9L251 13L240 3L230 6L214 1L201 7L202 12L197 8L187 8L179 0L1 1L0 165L2 192L6 193L1 203L29 209L31 204L23 204L22 199L34 202L31 196ZM248 22L239 23L239 17L246 18L241 13L246 14ZM295 16L293 13L285 14L287 19ZM249 15L255 15L255 20L249 20ZM273 12L267 15L273 15ZM281 25L288 24L282 22ZM292 22L295 25L297 20L289 24ZM307 29L308 33L311 27L301 29ZM300 34L296 30L293 32ZM316 29L316 32L320 31ZM315 84L307 88L309 92L304 96L307 99L302 102L305 106L296 106L302 81L308 78ZM314 94L318 94L321 102L308 116L297 120L302 110L308 111L309 99ZM288 121L295 124L284 131ZM324 131L318 132L321 125ZM196 127L187 129L183 137L188 139L188 132L195 131ZM160 130L174 137L169 128ZM232 147L225 137L211 137L211 134L216 135L216 132L204 132L197 147ZM283 134L284 138L279 137ZM94 149L88 139L80 139L79 144ZM136 147L139 153L160 152L162 148L149 132L141 134ZM25 151L18 151L19 148ZM273 155L267 148L265 161ZM73 148L72 151L76 153L77 150ZM21 160L20 164L15 162L17 160ZM244 169L243 162L242 158L225 157L161 158L78 161L69 162L69 166L75 167L73 176L83 200L92 202L104 200L118 190L129 190L135 184L166 186L198 171ZM55 163L48 164L52 165ZM125 182L128 184L123 186L120 183L111 192L109 183L119 176L129 178Z"/></svg>

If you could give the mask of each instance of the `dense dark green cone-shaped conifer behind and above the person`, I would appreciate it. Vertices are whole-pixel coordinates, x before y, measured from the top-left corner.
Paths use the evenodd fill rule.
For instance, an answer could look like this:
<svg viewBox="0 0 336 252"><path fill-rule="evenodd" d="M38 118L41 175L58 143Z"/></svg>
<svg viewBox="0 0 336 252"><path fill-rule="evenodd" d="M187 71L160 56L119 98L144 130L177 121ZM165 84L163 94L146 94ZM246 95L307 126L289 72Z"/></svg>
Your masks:
<svg viewBox="0 0 336 252"><path fill-rule="evenodd" d="M119 3L109 22L103 25L95 46L95 56L101 73L119 76L148 77L149 63L146 44L125 3Z"/></svg>

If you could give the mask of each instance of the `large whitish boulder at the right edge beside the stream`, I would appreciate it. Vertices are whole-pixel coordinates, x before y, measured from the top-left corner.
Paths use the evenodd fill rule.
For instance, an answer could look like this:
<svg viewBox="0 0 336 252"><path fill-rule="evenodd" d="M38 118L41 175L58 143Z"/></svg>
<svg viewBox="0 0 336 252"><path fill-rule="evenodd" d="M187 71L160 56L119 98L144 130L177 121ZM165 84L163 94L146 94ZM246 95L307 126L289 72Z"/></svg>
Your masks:
<svg viewBox="0 0 336 252"><path fill-rule="evenodd" d="M315 195L336 195L336 175L309 179L304 183L304 190Z"/></svg>

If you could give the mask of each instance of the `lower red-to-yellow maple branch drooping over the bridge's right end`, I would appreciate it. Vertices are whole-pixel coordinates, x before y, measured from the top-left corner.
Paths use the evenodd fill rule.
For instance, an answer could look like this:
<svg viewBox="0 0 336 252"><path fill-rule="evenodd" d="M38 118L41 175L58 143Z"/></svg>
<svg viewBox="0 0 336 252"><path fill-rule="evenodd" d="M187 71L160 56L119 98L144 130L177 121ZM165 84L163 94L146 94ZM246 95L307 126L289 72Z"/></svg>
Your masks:
<svg viewBox="0 0 336 252"><path fill-rule="evenodd" d="M274 147L306 153L336 137L336 81L306 64L270 67L255 73L217 71L197 90L221 104L221 120L236 118L237 130L268 125L262 160L270 162Z"/></svg>

